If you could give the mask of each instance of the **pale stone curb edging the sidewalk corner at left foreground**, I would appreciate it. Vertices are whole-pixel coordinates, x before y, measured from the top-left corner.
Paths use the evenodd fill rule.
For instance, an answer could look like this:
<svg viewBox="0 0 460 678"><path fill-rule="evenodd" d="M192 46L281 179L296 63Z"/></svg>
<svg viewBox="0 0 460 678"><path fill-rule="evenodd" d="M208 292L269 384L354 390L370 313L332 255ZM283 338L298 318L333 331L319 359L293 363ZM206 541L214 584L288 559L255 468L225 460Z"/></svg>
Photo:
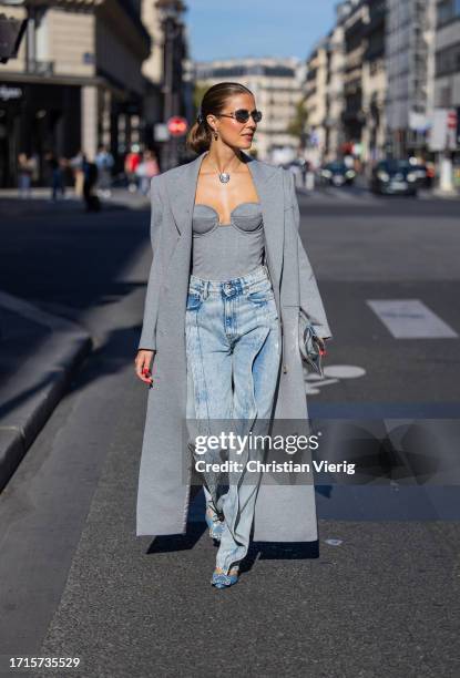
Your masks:
<svg viewBox="0 0 460 678"><path fill-rule="evenodd" d="M0 291L0 306L51 330L50 338L0 388L0 492L93 348L89 332Z"/></svg>

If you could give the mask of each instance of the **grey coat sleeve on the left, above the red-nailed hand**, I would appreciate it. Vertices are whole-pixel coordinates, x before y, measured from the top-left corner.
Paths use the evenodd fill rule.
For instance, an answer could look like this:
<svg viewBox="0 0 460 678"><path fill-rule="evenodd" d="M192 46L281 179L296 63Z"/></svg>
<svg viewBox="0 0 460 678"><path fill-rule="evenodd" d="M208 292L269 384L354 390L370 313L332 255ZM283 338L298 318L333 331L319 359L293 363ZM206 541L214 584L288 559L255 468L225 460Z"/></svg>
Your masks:
<svg viewBox="0 0 460 678"><path fill-rule="evenodd" d="M160 175L159 175L160 176ZM150 239L153 259L150 267L149 282L144 304L144 319L137 350L156 350L156 318L159 315L160 287L162 284L161 240L162 240L162 202L159 192L159 176L151 181L151 222Z"/></svg>

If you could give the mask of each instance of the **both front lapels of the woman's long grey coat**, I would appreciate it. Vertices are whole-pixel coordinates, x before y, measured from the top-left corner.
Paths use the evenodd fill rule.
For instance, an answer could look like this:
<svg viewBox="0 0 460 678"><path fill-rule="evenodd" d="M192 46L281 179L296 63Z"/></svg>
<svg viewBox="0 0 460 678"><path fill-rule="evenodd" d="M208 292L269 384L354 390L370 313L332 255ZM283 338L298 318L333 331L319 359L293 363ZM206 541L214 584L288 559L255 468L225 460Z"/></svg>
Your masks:
<svg viewBox="0 0 460 678"><path fill-rule="evenodd" d="M164 175L171 210L177 228L177 242L183 238L184 234L192 232L192 214L195 205L200 167L206 154L207 151L204 151L191 163L181 165ZM276 166L257 161L247 153L244 153L244 155L247 158L248 168L260 201L268 268L272 278L276 280L279 287L283 266L285 208L283 175Z"/></svg>

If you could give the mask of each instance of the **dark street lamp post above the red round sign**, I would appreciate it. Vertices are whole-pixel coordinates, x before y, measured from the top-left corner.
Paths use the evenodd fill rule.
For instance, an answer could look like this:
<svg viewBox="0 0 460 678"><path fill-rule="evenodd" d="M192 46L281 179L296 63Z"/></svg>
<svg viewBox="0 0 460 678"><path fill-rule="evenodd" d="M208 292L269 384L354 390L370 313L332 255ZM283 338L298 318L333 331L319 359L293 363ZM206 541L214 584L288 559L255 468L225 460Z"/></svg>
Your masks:
<svg viewBox="0 0 460 678"><path fill-rule="evenodd" d="M173 115L181 113L182 85L182 23L181 14L186 11L182 0L156 0L164 34L163 52L163 119L166 123ZM178 40L181 38L181 40ZM162 170L170 170L177 165L176 140L170 138L162 147Z"/></svg>

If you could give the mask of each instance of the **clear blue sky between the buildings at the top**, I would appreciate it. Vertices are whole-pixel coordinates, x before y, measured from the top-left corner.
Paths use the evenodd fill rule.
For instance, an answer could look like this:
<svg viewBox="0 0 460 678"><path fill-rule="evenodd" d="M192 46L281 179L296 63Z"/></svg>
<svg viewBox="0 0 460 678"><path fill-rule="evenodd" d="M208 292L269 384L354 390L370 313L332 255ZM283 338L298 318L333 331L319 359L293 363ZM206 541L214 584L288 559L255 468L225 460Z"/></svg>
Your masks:
<svg viewBox="0 0 460 678"><path fill-rule="evenodd" d="M335 22L338 0L185 0L194 61L305 59Z"/></svg>

